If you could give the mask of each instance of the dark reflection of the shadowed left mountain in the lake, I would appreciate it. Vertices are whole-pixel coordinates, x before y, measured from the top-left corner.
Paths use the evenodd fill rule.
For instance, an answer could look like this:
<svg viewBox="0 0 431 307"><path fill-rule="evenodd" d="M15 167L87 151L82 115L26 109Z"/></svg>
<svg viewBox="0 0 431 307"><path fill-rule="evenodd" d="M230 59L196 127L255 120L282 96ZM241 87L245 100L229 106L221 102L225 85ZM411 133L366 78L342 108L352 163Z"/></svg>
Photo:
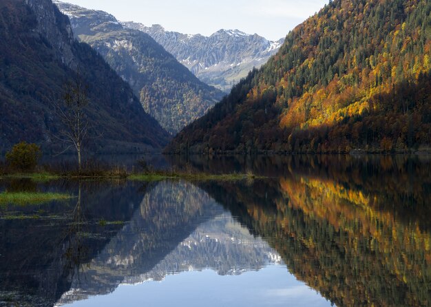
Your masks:
<svg viewBox="0 0 431 307"><path fill-rule="evenodd" d="M78 195L73 182L48 189ZM121 228L99 221L129 220L142 200L131 184L85 182L81 190L79 216L72 213L76 198L68 203L0 209L0 305L8 301L11 306L52 306L69 290L76 265L95 257Z"/></svg>

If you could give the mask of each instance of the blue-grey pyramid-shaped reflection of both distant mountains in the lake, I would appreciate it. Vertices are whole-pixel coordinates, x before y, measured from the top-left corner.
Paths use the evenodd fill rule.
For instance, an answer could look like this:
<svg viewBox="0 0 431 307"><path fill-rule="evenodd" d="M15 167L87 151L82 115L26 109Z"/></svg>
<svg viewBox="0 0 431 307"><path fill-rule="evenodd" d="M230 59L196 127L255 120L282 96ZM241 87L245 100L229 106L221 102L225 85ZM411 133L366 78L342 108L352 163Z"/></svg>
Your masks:
<svg viewBox="0 0 431 307"><path fill-rule="evenodd" d="M132 220L89 266L58 304L111 293L119 284L162 280L168 274L212 268L240 274L280 262L199 188L162 182L149 191Z"/></svg>

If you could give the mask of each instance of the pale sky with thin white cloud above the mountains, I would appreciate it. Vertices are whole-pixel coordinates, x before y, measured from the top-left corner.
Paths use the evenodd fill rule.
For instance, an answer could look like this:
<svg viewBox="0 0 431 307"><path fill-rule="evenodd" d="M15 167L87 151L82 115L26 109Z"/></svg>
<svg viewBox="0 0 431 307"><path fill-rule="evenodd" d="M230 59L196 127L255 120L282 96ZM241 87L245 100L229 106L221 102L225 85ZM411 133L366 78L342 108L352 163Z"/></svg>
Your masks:
<svg viewBox="0 0 431 307"><path fill-rule="evenodd" d="M120 21L160 24L166 30L209 36L238 29L278 40L328 0L61 0L103 10Z"/></svg>

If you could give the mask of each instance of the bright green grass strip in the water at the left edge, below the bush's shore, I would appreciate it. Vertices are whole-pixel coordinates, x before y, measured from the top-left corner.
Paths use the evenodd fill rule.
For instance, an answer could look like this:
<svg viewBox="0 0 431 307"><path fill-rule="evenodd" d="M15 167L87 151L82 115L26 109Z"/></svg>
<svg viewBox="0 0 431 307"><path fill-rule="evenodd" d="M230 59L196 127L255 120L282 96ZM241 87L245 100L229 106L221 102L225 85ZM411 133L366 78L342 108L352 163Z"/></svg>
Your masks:
<svg viewBox="0 0 431 307"><path fill-rule="evenodd" d="M67 200L71 195L62 193L2 192L0 205L6 204L43 204L52 200Z"/></svg>

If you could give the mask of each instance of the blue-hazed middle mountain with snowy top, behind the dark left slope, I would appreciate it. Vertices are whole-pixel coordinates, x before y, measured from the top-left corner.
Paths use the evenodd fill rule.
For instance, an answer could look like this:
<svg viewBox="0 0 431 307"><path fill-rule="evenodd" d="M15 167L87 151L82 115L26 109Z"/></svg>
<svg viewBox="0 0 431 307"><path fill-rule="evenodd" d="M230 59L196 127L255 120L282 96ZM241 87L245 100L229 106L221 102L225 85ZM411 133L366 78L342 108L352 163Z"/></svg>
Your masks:
<svg viewBox="0 0 431 307"><path fill-rule="evenodd" d="M224 95L199 81L148 34L123 27L110 14L55 1L79 40L89 43L129 83L146 112L176 134Z"/></svg>

